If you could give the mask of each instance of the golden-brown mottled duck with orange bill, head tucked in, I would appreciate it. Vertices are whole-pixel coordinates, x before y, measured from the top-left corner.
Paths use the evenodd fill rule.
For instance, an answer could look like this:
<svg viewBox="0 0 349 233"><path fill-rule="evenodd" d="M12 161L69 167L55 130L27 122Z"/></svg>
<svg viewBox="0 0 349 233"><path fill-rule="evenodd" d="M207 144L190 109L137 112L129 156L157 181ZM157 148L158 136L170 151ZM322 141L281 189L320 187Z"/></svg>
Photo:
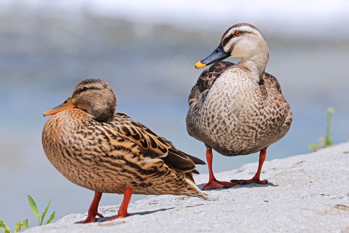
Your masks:
<svg viewBox="0 0 349 233"><path fill-rule="evenodd" d="M186 195L207 199L196 187L195 164L206 164L177 150L146 126L116 112L117 99L101 79L80 82L73 94L44 116L42 143L52 165L69 181L95 191L83 223L96 221L102 193L124 193L116 218L129 216L132 193ZM112 220L109 219L109 220Z"/></svg>

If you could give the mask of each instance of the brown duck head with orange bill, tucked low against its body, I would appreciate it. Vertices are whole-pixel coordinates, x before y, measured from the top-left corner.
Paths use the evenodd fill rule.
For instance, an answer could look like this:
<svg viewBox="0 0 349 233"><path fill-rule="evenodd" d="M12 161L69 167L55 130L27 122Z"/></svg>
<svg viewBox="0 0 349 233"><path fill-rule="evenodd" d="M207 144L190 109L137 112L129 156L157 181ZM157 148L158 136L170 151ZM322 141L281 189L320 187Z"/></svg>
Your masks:
<svg viewBox="0 0 349 233"><path fill-rule="evenodd" d="M110 122L116 105L115 93L106 81L86 79L75 87L73 94L66 101L44 112L44 116L54 115L70 108L79 108L90 114L96 121Z"/></svg>

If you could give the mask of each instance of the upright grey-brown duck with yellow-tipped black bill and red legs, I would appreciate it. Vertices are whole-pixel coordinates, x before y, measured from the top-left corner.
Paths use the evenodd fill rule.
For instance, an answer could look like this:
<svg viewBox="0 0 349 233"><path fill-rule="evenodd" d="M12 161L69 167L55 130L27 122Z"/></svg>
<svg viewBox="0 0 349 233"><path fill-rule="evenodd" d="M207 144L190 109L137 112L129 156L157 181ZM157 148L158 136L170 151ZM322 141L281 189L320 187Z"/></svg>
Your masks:
<svg viewBox="0 0 349 233"><path fill-rule="evenodd" d="M241 57L237 64L222 61ZM209 181L203 190L236 184L259 183L268 146L288 132L292 122L290 106L281 94L279 82L265 73L269 59L267 42L251 24L238 23L224 32L218 47L196 63L210 64L201 73L189 95L186 117L190 136L206 145ZM250 180L217 181L212 172L212 149L225 156L260 151L259 165Z"/></svg>

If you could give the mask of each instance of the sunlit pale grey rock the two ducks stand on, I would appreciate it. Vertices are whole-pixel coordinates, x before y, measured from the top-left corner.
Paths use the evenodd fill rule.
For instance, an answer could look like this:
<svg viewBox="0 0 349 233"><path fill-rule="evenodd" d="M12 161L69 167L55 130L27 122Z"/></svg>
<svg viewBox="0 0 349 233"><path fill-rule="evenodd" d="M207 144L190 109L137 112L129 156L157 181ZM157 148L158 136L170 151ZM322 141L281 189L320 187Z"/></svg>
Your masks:
<svg viewBox="0 0 349 233"><path fill-rule="evenodd" d="M257 160L257 158L256 158ZM228 158L227 162L234 162ZM218 180L250 179L258 163L217 173ZM96 232L341 232L349 233L349 143L314 153L266 161L267 185L236 185L204 191L210 201L185 196L149 196L130 203L124 219L74 224L87 214L69 214L25 233ZM195 177L202 187L208 174ZM90 203L88 203L90 204ZM112 217L119 206L99 207ZM108 217L99 219L106 220Z"/></svg>

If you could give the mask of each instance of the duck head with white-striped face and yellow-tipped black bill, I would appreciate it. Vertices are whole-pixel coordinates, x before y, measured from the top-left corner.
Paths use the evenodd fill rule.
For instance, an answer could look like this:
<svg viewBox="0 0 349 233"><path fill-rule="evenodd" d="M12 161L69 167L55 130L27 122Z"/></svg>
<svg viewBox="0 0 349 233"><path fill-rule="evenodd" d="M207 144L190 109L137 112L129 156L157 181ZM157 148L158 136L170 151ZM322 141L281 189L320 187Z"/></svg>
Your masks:
<svg viewBox="0 0 349 233"><path fill-rule="evenodd" d="M218 47L206 58L196 63L195 68L201 68L228 57L241 57L242 61L246 61L256 56L268 62L267 42L261 32L252 24L238 23L224 32Z"/></svg>

